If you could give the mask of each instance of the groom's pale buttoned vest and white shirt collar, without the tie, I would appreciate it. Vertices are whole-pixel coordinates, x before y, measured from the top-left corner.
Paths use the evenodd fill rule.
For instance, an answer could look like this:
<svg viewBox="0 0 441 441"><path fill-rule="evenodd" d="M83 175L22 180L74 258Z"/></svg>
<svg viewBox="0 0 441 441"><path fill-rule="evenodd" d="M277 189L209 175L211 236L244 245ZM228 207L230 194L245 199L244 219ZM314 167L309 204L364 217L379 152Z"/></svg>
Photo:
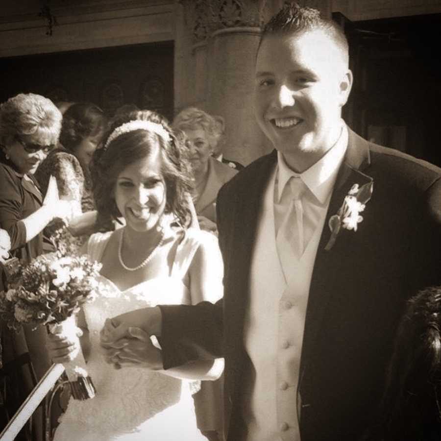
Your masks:
<svg viewBox="0 0 441 441"><path fill-rule="evenodd" d="M251 262L244 343L252 366L245 373L244 419L247 441L299 441L297 383L306 306L317 248L329 200L347 147L347 128L316 164L298 174L278 153L259 218ZM301 196L303 250L283 268L276 234L291 205L291 176L306 190ZM291 247L291 244L280 246Z"/></svg>

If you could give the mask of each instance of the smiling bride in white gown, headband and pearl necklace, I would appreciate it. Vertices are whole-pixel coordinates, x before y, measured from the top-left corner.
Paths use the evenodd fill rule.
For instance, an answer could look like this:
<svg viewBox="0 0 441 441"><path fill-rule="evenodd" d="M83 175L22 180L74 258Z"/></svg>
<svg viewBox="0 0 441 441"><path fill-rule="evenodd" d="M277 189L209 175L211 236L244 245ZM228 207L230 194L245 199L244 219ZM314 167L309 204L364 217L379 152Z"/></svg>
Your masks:
<svg viewBox="0 0 441 441"><path fill-rule="evenodd" d="M156 304L196 304L222 295L222 260L216 238L187 228L190 166L169 126L140 111L112 124L94 160L98 218L125 220L113 232L91 236L87 254L102 264L105 289L78 316L81 348L97 389L86 401L71 400L55 441L205 440L196 428L191 393L195 380L221 375L223 359L162 370L157 341L133 333L157 355L157 364L128 363L115 352L106 363L99 331L107 318ZM79 332L80 334L80 332ZM69 360L79 343L49 337L55 363Z"/></svg>

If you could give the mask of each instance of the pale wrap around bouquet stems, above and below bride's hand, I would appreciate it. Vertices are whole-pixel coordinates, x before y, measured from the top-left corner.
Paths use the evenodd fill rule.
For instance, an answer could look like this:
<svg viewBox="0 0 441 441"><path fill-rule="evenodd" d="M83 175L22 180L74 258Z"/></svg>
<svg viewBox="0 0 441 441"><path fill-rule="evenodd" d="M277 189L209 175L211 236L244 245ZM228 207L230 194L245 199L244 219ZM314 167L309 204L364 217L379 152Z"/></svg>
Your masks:
<svg viewBox="0 0 441 441"><path fill-rule="evenodd" d="M74 357L69 363L63 363L66 369L66 375L69 379L72 396L76 400L87 400L95 396L95 386L92 378L86 370L86 361L84 360L81 347L79 346L79 338L77 336L78 328L75 323L75 316L72 315L60 323L49 325L51 334L58 334L69 338L71 341L78 340L79 350L73 353Z"/></svg>

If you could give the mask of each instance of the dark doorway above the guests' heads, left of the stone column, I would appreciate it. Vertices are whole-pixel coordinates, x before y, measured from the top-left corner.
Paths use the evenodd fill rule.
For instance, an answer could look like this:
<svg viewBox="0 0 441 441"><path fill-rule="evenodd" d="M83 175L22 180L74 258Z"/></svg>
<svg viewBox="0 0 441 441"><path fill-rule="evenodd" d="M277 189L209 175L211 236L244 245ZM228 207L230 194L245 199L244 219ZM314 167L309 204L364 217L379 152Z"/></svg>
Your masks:
<svg viewBox="0 0 441 441"><path fill-rule="evenodd" d="M0 100L33 92L91 101L108 115L123 104L173 116L173 42L0 59Z"/></svg>

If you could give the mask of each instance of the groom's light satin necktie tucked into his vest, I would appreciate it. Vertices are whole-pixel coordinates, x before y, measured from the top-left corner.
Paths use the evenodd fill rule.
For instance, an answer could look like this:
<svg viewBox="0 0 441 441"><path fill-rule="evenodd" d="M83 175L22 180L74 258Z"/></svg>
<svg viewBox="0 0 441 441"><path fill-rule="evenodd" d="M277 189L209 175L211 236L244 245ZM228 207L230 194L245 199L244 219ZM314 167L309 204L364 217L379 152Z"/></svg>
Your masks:
<svg viewBox="0 0 441 441"><path fill-rule="evenodd" d="M303 205L301 197L306 185L300 177L291 177L291 201L277 231L276 244L285 277L288 278L293 257L300 259L304 250Z"/></svg>

